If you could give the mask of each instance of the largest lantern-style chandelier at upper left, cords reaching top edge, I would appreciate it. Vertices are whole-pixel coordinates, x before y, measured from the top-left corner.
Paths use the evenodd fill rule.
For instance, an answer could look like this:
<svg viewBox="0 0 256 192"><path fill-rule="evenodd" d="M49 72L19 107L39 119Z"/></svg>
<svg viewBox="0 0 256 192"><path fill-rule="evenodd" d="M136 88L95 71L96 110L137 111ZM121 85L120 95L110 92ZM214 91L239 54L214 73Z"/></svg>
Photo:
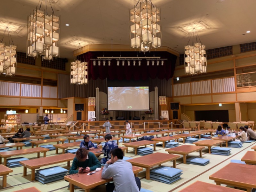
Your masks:
<svg viewBox="0 0 256 192"><path fill-rule="evenodd" d="M41 10L41 2L39 9L33 10L33 13L28 16L27 27L27 55L36 57L41 55L44 60L52 60L53 57L59 56L60 44L60 16L48 15L47 0L45 0L46 12ZM51 2L48 0L50 5ZM52 5L51 5L52 8Z"/></svg>

